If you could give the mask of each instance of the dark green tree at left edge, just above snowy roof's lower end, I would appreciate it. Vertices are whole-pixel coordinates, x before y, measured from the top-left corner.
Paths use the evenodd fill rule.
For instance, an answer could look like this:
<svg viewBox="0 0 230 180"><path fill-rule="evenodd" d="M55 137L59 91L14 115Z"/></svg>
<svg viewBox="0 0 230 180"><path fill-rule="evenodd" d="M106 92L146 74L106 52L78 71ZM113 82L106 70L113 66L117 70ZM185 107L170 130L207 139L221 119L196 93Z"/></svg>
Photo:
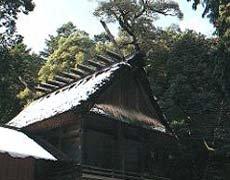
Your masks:
<svg viewBox="0 0 230 180"><path fill-rule="evenodd" d="M42 60L30 54L23 44L8 49L1 47L0 53L0 122L3 123L11 120L32 98L31 92ZM26 91L23 95L22 92Z"/></svg>

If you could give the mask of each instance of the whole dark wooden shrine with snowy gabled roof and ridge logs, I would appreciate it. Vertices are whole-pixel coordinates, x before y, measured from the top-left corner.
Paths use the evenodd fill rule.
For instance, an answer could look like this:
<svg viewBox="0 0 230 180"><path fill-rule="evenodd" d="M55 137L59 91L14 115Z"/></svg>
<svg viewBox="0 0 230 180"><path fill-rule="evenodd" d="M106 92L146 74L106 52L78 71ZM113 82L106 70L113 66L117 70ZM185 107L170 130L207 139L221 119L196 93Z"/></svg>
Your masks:
<svg viewBox="0 0 230 180"><path fill-rule="evenodd" d="M107 51L37 87L43 96L7 125L65 157L69 166L47 179L172 177L177 139L143 64L141 53L122 58Z"/></svg>

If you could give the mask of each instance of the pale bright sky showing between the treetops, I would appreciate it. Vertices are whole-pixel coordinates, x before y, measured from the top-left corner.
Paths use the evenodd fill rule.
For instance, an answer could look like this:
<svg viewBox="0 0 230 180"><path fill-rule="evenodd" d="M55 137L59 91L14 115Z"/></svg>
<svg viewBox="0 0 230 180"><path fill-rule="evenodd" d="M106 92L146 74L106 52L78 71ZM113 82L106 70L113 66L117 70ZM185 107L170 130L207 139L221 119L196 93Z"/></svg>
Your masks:
<svg viewBox="0 0 230 180"><path fill-rule="evenodd" d="M183 20L176 17L160 17L156 25L167 27L178 24L182 30L193 29L211 36L214 29L208 19L201 17L203 8L192 10L191 3L176 0L182 12ZM29 15L20 15L17 21L18 33L24 36L24 43L38 53L45 47L45 39L49 34L55 35L56 29L66 22L72 21L77 28L93 36L104 31L99 19L93 15L97 7L96 0L34 0L35 9ZM117 34L117 25L108 25L111 32Z"/></svg>

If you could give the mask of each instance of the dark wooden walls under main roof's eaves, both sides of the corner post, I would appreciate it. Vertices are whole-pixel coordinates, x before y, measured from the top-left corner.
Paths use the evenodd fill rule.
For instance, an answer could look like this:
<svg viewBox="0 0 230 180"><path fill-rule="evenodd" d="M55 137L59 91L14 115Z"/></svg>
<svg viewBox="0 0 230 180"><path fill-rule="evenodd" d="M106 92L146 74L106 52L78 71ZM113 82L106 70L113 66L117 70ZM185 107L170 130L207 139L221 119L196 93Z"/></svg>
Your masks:
<svg viewBox="0 0 230 180"><path fill-rule="evenodd" d="M41 136L83 166L150 176L173 173L173 136L94 112L82 114L76 122Z"/></svg>

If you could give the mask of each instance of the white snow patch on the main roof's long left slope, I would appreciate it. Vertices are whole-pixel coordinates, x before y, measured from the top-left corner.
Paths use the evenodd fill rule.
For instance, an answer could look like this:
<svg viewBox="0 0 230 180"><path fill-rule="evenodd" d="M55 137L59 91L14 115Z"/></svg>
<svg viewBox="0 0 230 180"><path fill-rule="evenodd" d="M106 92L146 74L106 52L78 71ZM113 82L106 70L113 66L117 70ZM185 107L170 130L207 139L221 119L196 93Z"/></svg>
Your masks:
<svg viewBox="0 0 230 180"><path fill-rule="evenodd" d="M117 63L104 69L102 72L87 76L37 99L7 123L7 125L17 128L26 127L81 105L83 101L86 101L92 94L105 85L111 79L113 73L122 65L128 64L124 62Z"/></svg>

